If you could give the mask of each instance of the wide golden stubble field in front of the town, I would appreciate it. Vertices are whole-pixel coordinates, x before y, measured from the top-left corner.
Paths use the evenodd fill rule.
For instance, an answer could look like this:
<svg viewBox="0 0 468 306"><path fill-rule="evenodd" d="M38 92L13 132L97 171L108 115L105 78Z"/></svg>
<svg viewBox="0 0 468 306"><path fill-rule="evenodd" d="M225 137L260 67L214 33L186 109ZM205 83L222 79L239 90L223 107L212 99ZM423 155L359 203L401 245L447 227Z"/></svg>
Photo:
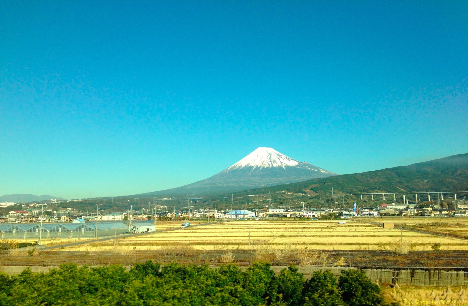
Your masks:
<svg viewBox="0 0 468 306"><path fill-rule="evenodd" d="M384 220L392 222L390 219ZM227 221L185 229L177 228L162 233L130 236L116 241L89 243L61 250L105 251L112 250L115 246L128 250L157 250L171 246L186 246L199 250L250 248L258 250L402 250L404 252L431 250L434 244L440 244L440 250L468 249L468 240L406 230L401 233L399 228L383 229L381 224L374 225L363 221L347 220L346 224L342 225L337 224L336 220ZM372 220L372 222L379 221ZM424 221L434 222L434 220L426 219ZM158 225L157 222L156 225ZM157 229L164 226L167 228L170 224L161 224ZM400 242L401 234L402 243Z"/></svg>

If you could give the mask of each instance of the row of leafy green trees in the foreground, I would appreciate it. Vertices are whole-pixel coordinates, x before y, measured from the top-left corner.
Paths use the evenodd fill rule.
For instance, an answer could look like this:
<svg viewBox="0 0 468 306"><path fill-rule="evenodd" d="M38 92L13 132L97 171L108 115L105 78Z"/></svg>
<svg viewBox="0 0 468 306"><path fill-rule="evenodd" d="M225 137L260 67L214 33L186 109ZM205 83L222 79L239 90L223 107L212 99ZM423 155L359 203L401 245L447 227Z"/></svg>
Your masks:
<svg viewBox="0 0 468 306"><path fill-rule="evenodd" d="M218 269L147 261L128 272L119 265L63 264L48 273L0 274L0 305L119 306L371 306L385 305L379 286L360 270L329 271L310 280L295 266L275 276L269 263L245 271L233 264Z"/></svg>

